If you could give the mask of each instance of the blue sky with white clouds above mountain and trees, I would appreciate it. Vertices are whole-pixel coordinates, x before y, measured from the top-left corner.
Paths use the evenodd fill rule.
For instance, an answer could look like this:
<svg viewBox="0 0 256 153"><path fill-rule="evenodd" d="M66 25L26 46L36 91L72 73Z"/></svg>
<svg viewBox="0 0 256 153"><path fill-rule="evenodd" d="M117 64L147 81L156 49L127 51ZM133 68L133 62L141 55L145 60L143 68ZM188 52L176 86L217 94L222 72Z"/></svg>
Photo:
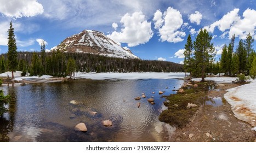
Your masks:
<svg viewBox="0 0 256 153"><path fill-rule="evenodd" d="M7 30L13 22L19 51L46 49L83 30L96 30L127 46L145 60L183 61L187 36L200 28L213 36L217 50L250 32L256 38L256 2L168 0L0 0L0 53L7 49ZM254 42L254 48L255 48Z"/></svg>

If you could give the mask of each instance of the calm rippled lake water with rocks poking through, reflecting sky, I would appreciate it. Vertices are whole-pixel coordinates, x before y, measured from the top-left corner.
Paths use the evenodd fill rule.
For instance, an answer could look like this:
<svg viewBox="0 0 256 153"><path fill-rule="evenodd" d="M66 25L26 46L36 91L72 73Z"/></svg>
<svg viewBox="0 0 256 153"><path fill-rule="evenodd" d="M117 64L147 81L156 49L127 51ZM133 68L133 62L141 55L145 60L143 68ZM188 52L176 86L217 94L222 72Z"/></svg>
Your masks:
<svg viewBox="0 0 256 153"><path fill-rule="evenodd" d="M178 79L79 79L3 86L0 88L13 102L7 106L10 112L0 119L0 133L9 142L166 142L175 128L158 121L166 109L158 91L170 95L181 84L183 80ZM141 93L154 96L156 104L151 105L147 98L135 101ZM71 105L72 100L79 105ZM103 126L103 120L112 120L113 126ZM87 132L74 130L79 122L86 123Z"/></svg>

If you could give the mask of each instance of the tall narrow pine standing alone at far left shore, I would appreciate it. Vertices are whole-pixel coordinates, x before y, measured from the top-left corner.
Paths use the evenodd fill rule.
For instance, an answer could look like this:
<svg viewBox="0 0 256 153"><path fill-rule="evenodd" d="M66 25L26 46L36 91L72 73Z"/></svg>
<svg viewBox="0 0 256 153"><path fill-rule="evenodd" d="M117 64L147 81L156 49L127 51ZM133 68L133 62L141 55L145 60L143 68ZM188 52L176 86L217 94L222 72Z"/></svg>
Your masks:
<svg viewBox="0 0 256 153"><path fill-rule="evenodd" d="M13 72L18 68L18 52L16 46L16 40L14 35L14 28L12 21L10 22L10 28L8 30L8 69L12 71L12 79L14 78Z"/></svg>

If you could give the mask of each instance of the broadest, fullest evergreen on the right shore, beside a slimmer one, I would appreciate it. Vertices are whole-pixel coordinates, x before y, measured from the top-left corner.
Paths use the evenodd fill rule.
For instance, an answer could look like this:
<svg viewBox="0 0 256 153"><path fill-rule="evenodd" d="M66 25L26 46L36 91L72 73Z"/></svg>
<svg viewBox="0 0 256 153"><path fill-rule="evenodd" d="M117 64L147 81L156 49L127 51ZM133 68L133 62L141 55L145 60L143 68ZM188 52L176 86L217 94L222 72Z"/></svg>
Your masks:
<svg viewBox="0 0 256 153"><path fill-rule="evenodd" d="M204 81L206 68L214 61L215 49L211 40L212 36L209 32L201 29L194 42L195 64L200 69L202 81Z"/></svg>

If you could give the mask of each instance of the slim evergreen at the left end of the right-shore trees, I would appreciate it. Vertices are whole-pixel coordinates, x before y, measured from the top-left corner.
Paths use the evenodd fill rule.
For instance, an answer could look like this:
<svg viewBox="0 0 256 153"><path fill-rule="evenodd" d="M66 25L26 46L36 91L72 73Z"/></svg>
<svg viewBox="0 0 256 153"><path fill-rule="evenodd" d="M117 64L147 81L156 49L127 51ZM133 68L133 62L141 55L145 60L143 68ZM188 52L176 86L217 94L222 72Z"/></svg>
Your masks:
<svg viewBox="0 0 256 153"><path fill-rule="evenodd" d="M194 63L194 59L192 57L192 50L193 50L193 43L191 40L191 36L189 34L189 36L187 37L187 42L185 44L185 51L184 51L184 69L185 72L189 72L190 76L192 76L192 70L193 70L193 63Z"/></svg>

